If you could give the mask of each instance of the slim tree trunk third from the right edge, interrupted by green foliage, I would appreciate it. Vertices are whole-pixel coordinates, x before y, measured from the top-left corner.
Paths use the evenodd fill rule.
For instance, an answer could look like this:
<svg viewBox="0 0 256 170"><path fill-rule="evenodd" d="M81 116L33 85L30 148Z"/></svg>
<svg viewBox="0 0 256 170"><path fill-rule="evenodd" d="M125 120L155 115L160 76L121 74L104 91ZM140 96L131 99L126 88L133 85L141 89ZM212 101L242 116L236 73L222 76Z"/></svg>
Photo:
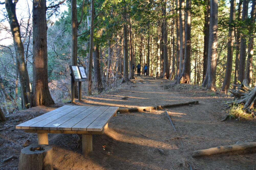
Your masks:
<svg viewBox="0 0 256 170"><path fill-rule="evenodd" d="M238 16L237 16L238 22L240 22L242 18L241 16L242 3L243 3L243 0L240 0L238 4ZM237 79L238 79L239 51L240 51L240 41L241 41L239 29L237 29L237 32L235 32L235 35L236 35L236 61L235 61L236 63L235 63L234 84L238 84Z"/></svg>

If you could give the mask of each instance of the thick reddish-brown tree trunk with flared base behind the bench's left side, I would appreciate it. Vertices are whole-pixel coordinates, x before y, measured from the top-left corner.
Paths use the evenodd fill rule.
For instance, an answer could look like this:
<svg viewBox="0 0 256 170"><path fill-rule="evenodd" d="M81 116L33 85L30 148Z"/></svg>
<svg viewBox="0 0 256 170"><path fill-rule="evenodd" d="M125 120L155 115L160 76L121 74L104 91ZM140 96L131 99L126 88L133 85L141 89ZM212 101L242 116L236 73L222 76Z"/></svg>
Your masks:
<svg viewBox="0 0 256 170"><path fill-rule="evenodd" d="M31 103L32 106L54 104L48 87L46 0L33 1L33 88Z"/></svg>

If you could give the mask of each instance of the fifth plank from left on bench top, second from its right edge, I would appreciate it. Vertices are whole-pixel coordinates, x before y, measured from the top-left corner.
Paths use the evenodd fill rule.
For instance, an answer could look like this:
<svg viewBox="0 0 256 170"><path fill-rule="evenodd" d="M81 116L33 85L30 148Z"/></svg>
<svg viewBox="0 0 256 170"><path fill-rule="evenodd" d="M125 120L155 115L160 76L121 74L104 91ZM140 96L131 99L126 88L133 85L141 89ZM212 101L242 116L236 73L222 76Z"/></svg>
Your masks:
<svg viewBox="0 0 256 170"><path fill-rule="evenodd" d="M101 106L94 112L92 112L90 115L88 115L86 118L81 120L79 123L74 125L71 129L72 130L86 130L86 128L94 122L95 119L97 119L104 111L106 111L109 107ZM100 131L100 130L99 130Z"/></svg>

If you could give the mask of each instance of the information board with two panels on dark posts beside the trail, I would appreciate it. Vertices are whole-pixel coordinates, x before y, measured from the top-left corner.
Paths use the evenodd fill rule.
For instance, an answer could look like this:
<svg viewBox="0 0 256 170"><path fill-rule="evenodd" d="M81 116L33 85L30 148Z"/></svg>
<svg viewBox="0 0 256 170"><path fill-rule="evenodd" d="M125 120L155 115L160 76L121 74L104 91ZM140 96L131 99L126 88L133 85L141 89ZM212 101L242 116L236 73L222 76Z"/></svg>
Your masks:
<svg viewBox="0 0 256 170"><path fill-rule="evenodd" d="M75 102L75 82L78 82L78 100L82 100L82 82L88 81L84 66L70 65L71 75L71 103Z"/></svg>

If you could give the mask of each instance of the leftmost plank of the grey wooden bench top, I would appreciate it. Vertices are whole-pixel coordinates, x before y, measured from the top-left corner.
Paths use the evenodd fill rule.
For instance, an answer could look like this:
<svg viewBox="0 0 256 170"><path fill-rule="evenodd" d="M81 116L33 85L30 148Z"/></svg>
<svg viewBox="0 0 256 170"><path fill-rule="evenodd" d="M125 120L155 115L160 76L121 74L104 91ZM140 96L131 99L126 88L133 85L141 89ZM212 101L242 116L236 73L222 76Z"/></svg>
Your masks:
<svg viewBox="0 0 256 170"><path fill-rule="evenodd" d="M52 110L52 111L50 111L48 113L42 114L41 116L35 117L34 119L31 119L29 121L26 121L24 123L21 123L21 124L17 125L16 129L29 129L29 126L31 126L31 125L33 125L33 124L35 124L37 122L40 122L41 120L44 120L47 117L50 117L50 116L52 116L54 114L57 114L57 113L65 110L65 109L70 108L70 107L71 106L69 106L69 105L65 105L65 106L62 106L62 107L60 107L58 109Z"/></svg>

